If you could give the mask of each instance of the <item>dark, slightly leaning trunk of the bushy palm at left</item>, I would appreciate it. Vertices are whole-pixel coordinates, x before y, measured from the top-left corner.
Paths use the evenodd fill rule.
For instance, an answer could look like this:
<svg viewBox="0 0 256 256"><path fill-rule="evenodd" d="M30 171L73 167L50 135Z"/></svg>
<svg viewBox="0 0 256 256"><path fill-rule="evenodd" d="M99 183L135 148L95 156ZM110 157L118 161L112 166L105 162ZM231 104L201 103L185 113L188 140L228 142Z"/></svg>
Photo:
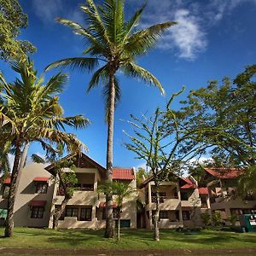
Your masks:
<svg viewBox="0 0 256 256"><path fill-rule="evenodd" d="M19 174L19 164L20 164L20 148L21 143L18 141L16 143L15 150L15 161L13 166L13 171L11 175L11 183L9 188L9 196L8 196L8 207L7 207L7 218L6 218L6 226L4 231L4 236L11 237L14 233L14 208L15 208L15 196L17 191L17 177Z"/></svg>

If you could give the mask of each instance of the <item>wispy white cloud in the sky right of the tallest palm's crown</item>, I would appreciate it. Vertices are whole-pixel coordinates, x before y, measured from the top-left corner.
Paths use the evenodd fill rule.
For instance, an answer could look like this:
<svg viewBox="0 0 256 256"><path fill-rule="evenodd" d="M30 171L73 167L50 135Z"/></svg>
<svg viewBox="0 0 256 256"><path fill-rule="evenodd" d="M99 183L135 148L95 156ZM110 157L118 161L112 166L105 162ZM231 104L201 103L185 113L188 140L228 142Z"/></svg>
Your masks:
<svg viewBox="0 0 256 256"><path fill-rule="evenodd" d="M131 7L141 5L138 0L130 0ZM137 3L139 2L139 3ZM151 0L143 14L143 27L169 21L177 21L160 39L158 47L172 51L179 58L194 60L207 49L207 34L212 26L216 26L225 16L243 3L256 4L256 0Z"/></svg>

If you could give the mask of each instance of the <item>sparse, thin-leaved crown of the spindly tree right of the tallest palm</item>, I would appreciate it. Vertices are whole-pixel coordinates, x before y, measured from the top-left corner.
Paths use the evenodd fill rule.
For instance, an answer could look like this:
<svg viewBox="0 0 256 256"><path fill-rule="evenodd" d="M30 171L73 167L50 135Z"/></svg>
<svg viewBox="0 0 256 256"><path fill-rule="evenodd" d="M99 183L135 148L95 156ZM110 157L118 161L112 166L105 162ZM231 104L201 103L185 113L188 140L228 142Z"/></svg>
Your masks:
<svg viewBox="0 0 256 256"><path fill-rule="evenodd" d="M125 147L137 154L138 159L146 161L156 183L169 180L172 177L170 173L180 175L184 162L192 159L204 147L201 143L195 143L186 152L182 150L184 143L201 134L201 131L189 130L179 123L176 111L170 108L175 96L182 91L171 97L166 111L157 108L149 118L143 116L139 119L131 115L131 121L128 121L133 127L134 136L125 132L131 140L131 143L125 143Z"/></svg>

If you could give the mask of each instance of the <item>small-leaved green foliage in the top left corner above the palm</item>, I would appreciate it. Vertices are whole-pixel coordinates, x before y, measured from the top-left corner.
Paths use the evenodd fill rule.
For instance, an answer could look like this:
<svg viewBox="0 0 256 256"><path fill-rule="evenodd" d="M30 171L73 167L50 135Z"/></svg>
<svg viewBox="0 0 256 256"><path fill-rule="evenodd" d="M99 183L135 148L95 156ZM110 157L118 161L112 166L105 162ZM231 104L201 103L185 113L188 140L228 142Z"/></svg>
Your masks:
<svg viewBox="0 0 256 256"><path fill-rule="evenodd" d="M18 40L20 29L26 28L27 15L18 0L1 0L0 3L0 59L20 59L36 48L28 41Z"/></svg>

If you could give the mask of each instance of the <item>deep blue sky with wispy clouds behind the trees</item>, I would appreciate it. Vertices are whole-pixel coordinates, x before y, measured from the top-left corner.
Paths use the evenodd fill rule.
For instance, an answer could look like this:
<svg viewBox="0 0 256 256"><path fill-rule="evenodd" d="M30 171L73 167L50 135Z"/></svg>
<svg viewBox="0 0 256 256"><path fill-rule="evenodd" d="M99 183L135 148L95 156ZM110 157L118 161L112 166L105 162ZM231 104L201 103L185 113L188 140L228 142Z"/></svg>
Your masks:
<svg viewBox="0 0 256 256"><path fill-rule="evenodd" d="M20 0L29 17L29 26L20 37L38 48L32 59L39 73L49 63L79 56L83 51L81 38L55 22L55 17L63 17L83 23L79 3L83 1ZM126 0L126 14L129 16L142 3L141 0ZM206 86L211 79L233 78L245 66L255 63L255 14L255 0L148 0L142 27L167 20L178 22L154 50L137 60L160 79L166 97L143 82L119 76L122 98L115 114L114 166L143 164L123 146L127 141L123 130L130 129L123 119L129 119L130 113L139 116L164 106L168 97L184 84L183 96L174 102L174 107L178 108L178 101L183 100L189 90ZM10 72L8 65L3 64L1 68L6 78L12 81L15 74ZM56 71L49 72L46 79L54 73ZM85 93L90 76L90 73L69 72L70 79L61 94L61 103L67 115L82 113L90 119L87 129L73 132L88 146L90 157L105 166L107 125L104 123L102 90L98 88L90 94ZM38 145L30 148L30 153L35 152L42 153Z"/></svg>

